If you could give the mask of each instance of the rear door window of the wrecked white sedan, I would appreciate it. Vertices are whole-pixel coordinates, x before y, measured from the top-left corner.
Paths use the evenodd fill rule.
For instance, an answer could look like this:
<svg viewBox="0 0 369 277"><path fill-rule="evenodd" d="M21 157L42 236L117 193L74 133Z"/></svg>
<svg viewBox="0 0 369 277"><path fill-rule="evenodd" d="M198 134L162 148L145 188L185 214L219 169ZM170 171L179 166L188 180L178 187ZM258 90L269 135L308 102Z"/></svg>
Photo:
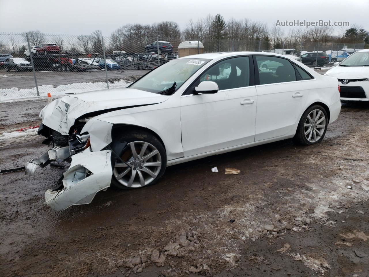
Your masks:
<svg viewBox="0 0 369 277"><path fill-rule="evenodd" d="M256 56L260 85L296 81L296 72L289 60Z"/></svg>

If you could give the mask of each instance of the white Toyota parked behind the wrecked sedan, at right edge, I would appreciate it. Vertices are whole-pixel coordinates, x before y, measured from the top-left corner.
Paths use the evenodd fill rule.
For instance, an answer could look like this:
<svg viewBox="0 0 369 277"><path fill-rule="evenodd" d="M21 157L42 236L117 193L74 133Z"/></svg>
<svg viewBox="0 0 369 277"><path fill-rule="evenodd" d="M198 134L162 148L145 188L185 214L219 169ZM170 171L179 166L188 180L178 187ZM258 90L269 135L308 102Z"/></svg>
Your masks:
<svg viewBox="0 0 369 277"><path fill-rule="evenodd" d="M341 100L369 101L369 49L357 51L335 65L324 75L338 79Z"/></svg>

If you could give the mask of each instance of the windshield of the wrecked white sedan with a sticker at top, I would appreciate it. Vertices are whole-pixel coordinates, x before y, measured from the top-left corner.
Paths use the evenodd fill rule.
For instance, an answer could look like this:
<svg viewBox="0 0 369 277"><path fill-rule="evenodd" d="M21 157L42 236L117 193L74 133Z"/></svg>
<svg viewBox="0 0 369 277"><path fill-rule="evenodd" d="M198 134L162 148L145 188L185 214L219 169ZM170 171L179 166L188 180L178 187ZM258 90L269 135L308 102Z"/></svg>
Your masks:
<svg viewBox="0 0 369 277"><path fill-rule="evenodd" d="M143 76L130 88L172 95L210 59L174 59Z"/></svg>

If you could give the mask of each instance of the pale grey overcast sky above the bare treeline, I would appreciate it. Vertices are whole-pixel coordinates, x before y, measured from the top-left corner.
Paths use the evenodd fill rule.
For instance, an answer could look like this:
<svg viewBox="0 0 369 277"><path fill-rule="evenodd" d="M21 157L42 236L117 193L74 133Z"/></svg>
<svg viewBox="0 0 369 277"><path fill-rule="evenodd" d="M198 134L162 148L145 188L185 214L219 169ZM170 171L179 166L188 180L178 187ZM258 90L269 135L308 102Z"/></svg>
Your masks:
<svg viewBox="0 0 369 277"><path fill-rule="evenodd" d="M40 30L47 34L104 35L128 23L175 21L181 30L192 18L220 13L225 20L249 18L272 27L277 20L349 21L369 30L368 0L0 0L0 33ZM286 32L287 27L283 27ZM338 28L336 28L338 31Z"/></svg>

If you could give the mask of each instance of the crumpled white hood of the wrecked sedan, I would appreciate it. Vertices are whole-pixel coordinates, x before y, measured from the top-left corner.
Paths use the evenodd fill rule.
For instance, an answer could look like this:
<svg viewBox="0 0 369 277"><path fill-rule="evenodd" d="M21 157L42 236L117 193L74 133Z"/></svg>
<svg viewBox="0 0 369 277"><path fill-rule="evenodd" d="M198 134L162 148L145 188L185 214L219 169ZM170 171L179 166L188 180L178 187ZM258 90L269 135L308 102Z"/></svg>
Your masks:
<svg viewBox="0 0 369 277"><path fill-rule="evenodd" d="M68 135L75 120L85 114L158 104L169 97L131 88L83 92L64 96L49 103L41 110L40 118L45 126L62 135Z"/></svg>

